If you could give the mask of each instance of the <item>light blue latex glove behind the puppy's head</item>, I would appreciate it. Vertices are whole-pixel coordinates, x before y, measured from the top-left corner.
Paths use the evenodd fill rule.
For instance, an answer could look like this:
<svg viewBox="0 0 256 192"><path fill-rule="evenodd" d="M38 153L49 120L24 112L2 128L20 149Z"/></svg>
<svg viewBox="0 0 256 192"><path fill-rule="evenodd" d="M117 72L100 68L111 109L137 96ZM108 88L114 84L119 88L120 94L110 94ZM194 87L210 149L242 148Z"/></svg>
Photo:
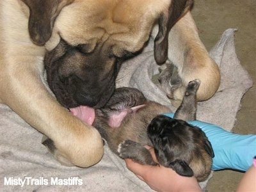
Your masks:
<svg viewBox="0 0 256 192"><path fill-rule="evenodd" d="M173 118L173 113L163 115ZM212 170L231 168L246 171L252 166L253 157L256 155L255 134L234 134L225 131L217 125L188 121L189 124L202 129L211 142L214 151Z"/></svg>

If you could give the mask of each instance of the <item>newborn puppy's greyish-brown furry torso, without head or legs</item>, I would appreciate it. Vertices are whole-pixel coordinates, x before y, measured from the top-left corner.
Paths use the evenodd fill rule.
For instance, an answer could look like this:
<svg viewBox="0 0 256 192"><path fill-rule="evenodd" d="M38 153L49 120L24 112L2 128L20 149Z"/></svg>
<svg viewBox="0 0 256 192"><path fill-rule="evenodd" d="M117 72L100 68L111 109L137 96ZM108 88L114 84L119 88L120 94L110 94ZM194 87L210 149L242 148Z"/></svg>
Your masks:
<svg viewBox="0 0 256 192"><path fill-rule="evenodd" d="M93 125L99 128L100 134L102 134L103 138L106 138L109 147L116 154L118 154L118 145L125 140L132 140L142 145L151 145L147 137L147 126L156 115L170 111L168 107L152 101L143 102L141 105L145 106L141 106L141 109L136 112L131 111L131 113L127 114L118 127L110 127L108 125L109 117L105 115L106 113L110 115L110 111L105 111L104 115L101 109L96 110L96 119ZM113 111L112 113L118 113L118 111ZM103 118L102 116L105 117Z"/></svg>

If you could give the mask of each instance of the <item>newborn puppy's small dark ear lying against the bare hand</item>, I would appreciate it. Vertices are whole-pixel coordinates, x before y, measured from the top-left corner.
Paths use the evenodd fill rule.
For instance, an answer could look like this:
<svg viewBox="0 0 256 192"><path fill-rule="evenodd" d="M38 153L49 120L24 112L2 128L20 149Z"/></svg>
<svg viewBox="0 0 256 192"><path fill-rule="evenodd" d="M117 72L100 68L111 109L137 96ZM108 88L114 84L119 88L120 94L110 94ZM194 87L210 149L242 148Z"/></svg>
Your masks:
<svg viewBox="0 0 256 192"><path fill-rule="evenodd" d="M180 159L176 159L169 164L170 168L175 170L176 173L186 177L192 177L194 175L193 170L189 167L188 163Z"/></svg>

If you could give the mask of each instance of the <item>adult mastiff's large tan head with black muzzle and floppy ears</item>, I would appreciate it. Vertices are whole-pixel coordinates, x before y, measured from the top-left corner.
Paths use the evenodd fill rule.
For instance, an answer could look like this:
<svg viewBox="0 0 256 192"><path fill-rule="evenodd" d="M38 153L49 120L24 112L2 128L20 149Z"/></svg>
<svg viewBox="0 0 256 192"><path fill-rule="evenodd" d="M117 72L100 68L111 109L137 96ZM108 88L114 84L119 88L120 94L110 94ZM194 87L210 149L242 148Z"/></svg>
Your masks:
<svg viewBox="0 0 256 192"><path fill-rule="evenodd" d="M188 7L187 0L22 1L31 13L31 39L47 42L49 86L67 108L104 106L115 90L120 63L143 49L156 23L155 58L163 63L168 32Z"/></svg>

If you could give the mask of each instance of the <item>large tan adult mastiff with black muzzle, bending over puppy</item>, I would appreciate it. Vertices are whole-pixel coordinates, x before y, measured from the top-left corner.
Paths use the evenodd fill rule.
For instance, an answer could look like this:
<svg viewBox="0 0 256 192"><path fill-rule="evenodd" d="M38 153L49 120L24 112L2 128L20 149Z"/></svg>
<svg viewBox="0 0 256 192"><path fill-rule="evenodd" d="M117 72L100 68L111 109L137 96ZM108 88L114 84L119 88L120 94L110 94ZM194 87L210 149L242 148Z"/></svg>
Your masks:
<svg viewBox="0 0 256 192"><path fill-rule="evenodd" d="M200 79L198 98L216 92L220 73L191 14L175 24L191 3L1 0L0 102L51 138L61 163L92 166L103 154L100 134L67 108L104 106L115 90L120 64L138 54L150 34L157 63L168 56L184 83ZM159 28L153 28L156 24ZM44 60L55 97L44 83Z"/></svg>

